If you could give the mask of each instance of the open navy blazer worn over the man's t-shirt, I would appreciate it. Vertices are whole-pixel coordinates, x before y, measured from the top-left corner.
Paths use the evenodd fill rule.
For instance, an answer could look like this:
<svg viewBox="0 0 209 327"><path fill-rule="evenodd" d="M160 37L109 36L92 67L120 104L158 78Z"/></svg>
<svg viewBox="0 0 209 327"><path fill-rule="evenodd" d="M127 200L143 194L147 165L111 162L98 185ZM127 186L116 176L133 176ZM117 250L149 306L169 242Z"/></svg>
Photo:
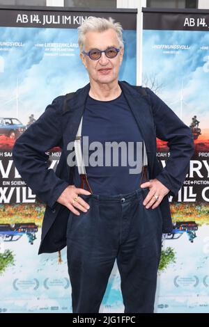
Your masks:
<svg viewBox="0 0 209 327"><path fill-rule="evenodd" d="M160 203L163 232L170 232L172 222L168 196L176 196L185 180L189 159L194 152L192 133L149 88L142 95L139 92L141 86L131 86L125 81L118 83L144 137L150 179L157 178L170 190ZM56 252L66 246L70 210L56 200L70 184L72 168L67 165L67 145L75 140L89 89L88 83L77 90L68 100L67 110L63 110L64 96L54 99L40 118L17 138L13 147L13 159L22 179L47 205L38 254ZM156 136L168 141L170 157L164 168L156 157ZM55 173L48 168L49 156L45 153L54 146L62 148Z"/></svg>

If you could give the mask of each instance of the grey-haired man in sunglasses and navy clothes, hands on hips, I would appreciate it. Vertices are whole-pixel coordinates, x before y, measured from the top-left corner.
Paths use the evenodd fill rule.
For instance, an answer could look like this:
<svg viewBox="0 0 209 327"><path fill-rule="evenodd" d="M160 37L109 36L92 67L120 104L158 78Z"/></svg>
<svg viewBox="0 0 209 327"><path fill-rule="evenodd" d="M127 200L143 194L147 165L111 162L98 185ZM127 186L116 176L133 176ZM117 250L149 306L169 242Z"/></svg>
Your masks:
<svg viewBox="0 0 209 327"><path fill-rule="evenodd" d="M79 26L79 48L90 83L70 98L56 98L13 150L23 179L47 204L39 253L67 244L72 312L99 312L115 260L125 312L153 312L162 230L172 229L167 195L176 195L185 180L192 134L151 90L118 81L120 24L91 17ZM82 136L91 144L144 142L150 180L140 186L142 170L130 174L128 164L89 165L83 173L72 167L69 144L79 141L82 118ZM163 169L156 136L171 151ZM56 145L62 154L54 173L45 151Z"/></svg>

